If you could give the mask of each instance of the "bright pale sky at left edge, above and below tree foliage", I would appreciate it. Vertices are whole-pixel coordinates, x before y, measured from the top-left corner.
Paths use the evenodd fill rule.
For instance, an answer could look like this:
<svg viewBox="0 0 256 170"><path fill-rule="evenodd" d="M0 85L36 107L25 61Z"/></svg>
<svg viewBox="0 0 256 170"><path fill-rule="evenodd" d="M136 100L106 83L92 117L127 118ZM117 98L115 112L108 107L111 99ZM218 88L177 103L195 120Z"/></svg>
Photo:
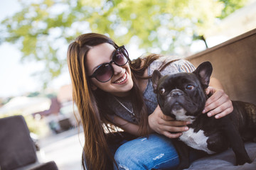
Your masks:
<svg viewBox="0 0 256 170"><path fill-rule="evenodd" d="M0 21L18 10L19 6L16 0L1 1ZM28 71L24 69L25 65L19 63L20 52L14 45L4 42L0 45L0 54L0 97L21 94L23 87L27 86L21 81L28 80Z"/></svg>

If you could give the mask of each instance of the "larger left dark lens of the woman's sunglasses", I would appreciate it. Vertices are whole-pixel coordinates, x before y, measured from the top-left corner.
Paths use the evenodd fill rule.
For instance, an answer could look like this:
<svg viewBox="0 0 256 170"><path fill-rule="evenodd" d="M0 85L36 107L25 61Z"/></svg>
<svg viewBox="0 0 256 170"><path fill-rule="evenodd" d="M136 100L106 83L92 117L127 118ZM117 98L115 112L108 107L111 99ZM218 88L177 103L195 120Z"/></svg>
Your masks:
<svg viewBox="0 0 256 170"><path fill-rule="evenodd" d="M96 79L101 82L109 81L113 75L112 67L110 64L103 64L95 72Z"/></svg>

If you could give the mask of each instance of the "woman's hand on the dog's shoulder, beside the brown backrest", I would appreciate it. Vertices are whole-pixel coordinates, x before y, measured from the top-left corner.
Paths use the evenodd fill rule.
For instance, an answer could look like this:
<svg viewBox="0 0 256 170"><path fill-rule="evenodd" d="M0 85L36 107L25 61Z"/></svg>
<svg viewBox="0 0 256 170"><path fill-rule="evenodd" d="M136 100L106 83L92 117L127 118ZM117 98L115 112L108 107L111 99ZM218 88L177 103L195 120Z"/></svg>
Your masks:
<svg viewBox="0 0 256 170"><path fill-rule="evenodd" d="M206 94L212 94L206 101L206 106L203 113L207 113L210 117L215 115L215 118L222 118L233 111L233 105L230 98L223 90L215 89L212 86L208 86Z"/></svg>

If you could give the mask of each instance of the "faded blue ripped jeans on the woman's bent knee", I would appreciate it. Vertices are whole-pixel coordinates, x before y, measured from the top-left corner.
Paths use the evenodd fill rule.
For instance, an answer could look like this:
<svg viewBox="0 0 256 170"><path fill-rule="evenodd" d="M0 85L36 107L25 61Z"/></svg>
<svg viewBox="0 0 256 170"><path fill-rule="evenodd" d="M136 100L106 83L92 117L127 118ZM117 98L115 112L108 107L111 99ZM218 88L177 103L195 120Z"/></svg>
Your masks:
<svg viewBox="0 0 256 170"><path fill-rule="evenodd" d="M201 157L191 153L191 159ZM114 154L119 170L175 169L178 154L171 140L163 135L151 134L121 145ZM114 164L114 170L117 170Z"/></svg>

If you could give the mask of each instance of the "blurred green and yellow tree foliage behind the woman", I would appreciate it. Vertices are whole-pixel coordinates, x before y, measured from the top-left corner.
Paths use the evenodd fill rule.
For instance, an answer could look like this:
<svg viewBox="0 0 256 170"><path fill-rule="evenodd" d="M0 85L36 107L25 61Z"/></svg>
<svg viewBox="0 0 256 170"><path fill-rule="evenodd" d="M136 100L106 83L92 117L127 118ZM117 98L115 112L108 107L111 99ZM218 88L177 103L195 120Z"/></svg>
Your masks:
<svg viewBox="0 0 256 170"><path fill-rule="evenodd" d="M247 0L20 0L5 18L0 43L10 42L22 61L41 61L45 83L66 67L68 44L82 33L110 36L118 45L162 54L186 47ZM65 68L66 69L66 68Z"/></svg>

